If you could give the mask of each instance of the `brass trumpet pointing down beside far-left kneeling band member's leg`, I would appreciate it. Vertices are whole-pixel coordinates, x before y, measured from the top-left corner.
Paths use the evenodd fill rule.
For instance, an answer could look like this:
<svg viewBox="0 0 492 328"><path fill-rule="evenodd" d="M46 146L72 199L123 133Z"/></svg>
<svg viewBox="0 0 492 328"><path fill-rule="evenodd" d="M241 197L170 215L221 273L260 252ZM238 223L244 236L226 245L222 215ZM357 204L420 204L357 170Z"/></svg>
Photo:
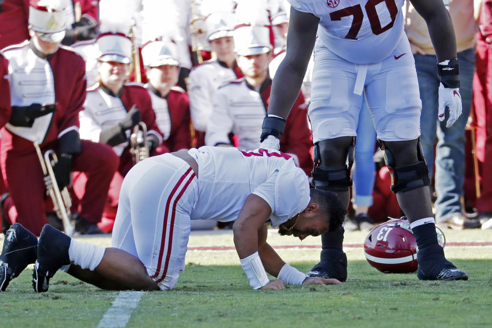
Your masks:
<svg viewBox="0 0 492 328"><path fill-rule="evenodd" d="M51 197L53 201L54 210L56 216L63 222L63 230L69 237L73 236L73 227L70 222L70 208L72 207L72 200L70 199L70 194L68 193L67 187L63 190L59 190L58 184L56 183L55 173L53 167L58 162L58 158L53 150L48 150L45 155L41 153L41 149L37 142L34 142L34 148L36 149L37 157L41 163L41 168L43 174L45 175L45 186L46 192Z"/></svg>

